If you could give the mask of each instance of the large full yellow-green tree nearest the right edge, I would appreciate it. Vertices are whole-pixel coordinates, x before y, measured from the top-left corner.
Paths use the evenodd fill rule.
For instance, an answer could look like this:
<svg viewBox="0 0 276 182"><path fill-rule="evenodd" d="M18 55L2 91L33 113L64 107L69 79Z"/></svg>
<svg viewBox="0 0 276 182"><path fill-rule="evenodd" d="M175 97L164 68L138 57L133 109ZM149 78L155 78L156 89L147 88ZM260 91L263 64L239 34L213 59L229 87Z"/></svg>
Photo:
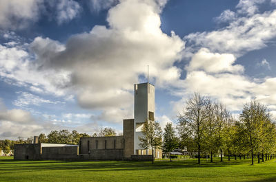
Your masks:
<svg viewBox="0 0 276 182"><path fill-rule="evenodd" d="M262 148L262 141L266 136L266 121L270 121L270 115L266 106L257 101L251 101L244 105L242 113L239 115L238 130L241 142L251 152L251 163L254 164L254 152Z"/></svg>

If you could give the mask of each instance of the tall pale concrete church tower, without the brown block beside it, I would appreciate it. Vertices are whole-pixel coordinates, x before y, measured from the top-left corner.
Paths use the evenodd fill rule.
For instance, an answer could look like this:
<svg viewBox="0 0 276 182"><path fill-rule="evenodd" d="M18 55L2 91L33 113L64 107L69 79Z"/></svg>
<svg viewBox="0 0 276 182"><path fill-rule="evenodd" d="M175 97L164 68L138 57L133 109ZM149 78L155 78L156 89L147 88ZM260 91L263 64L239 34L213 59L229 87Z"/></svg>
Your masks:
<svg viewBox="0 0 276 182"><path fill-rule="evenodd" d="M139 137L146 120L155 120L155 86L146 82L134 85L134 151L141 150Z"/></svg>

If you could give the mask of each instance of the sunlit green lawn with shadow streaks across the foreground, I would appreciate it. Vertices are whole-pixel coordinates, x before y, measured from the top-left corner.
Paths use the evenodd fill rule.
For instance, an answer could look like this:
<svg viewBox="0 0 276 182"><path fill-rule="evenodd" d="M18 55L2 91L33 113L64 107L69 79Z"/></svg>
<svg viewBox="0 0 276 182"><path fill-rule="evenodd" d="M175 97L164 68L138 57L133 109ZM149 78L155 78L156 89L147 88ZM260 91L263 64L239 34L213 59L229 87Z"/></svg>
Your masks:
<svg viewBox="0 0 276 182"><path fill-rule="evenodd" d="M210 160L209 160L210 161ZM276 181L276 159L184 161L14 161L0 157L0 181Z"/></svg>

